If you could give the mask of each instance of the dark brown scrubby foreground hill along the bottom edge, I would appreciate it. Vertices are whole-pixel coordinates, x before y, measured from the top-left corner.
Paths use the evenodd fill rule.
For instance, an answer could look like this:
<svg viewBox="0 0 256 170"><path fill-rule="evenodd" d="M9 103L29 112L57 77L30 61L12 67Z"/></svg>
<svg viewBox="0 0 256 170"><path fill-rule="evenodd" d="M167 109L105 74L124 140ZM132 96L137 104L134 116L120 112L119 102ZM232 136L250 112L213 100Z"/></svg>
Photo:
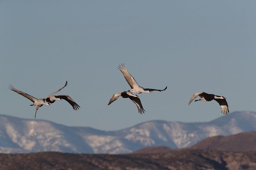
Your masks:
<svg viewBox="0 0 256 170"><path fill-rule="evenodd" d="M0 154L0 169L256 169L256 152L223 152L212 150L173 151L157 154L70 154L38 152L28 154Z"/></svg>

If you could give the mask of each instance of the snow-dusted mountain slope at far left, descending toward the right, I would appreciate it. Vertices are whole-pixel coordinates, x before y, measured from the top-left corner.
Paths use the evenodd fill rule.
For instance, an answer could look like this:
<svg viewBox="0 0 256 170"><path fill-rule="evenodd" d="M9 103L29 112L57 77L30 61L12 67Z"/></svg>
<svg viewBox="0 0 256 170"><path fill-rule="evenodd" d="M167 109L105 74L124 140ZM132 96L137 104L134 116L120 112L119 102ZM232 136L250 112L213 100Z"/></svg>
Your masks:
<svg viewBox="0 0 256 170"><path fill-rule="evenodd" d="M93 153L92 148L70 127L10 116L0 116L0 151L4 153L40 151Z"/></svg>

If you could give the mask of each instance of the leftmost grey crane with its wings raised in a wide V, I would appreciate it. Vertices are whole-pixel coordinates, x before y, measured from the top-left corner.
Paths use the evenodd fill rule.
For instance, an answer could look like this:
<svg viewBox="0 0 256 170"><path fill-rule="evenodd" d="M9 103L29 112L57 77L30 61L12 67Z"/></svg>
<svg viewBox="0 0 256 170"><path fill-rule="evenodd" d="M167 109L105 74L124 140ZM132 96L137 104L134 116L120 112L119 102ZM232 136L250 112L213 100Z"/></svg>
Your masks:
<svg viewBox="0 0 256 170"><path fill-rule="evenodd" d="M66 81L66 84L64 85L64 87L66 87L67 85L68 85L68 81ZM49 94L48 96L46 96L46 97L43 98L43 99L36 99L35 97L30 96L30 95L27 94L27 93L24 93L24 92L21 92L21 91L17 90L17 89L14 88L12 85L9 85L9 89L10 89L10 90L12 90L12 91L14 91L14 92L16 92L16 93L18 93L18 94L20 94L20 95L22 95L22 96L28 98L29 100L33 101L33 104L30 105L30 106L36 106L36 112L37 112L37 110L38 110L39 107L41 107L41 106L43 106L43 105L50 105L49 102L45 103L44 101L45 101L48 97L50 97L50 96L52 96L53 94L55 94L55 93L59 92L60 90L62 90L64 87L60 88L60 89L57 90L56 92L53 92L53 93ZM36 113L35 113L35 119L36 119Z"/></svg>

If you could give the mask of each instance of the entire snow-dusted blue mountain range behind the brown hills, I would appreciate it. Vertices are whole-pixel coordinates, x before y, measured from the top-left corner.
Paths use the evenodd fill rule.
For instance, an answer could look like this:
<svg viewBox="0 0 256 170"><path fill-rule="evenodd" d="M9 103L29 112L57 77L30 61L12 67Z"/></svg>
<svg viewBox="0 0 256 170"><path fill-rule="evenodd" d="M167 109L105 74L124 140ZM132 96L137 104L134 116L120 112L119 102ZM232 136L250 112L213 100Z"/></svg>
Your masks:
<svg viewBox="0 0 256 170"><path fill-rule="evenodd" d="M0 152L129 153L148 146L189 147L204 138L256 130L256 112L233 112L211 122L149 121L103 131L0 115Z"/></svg>

